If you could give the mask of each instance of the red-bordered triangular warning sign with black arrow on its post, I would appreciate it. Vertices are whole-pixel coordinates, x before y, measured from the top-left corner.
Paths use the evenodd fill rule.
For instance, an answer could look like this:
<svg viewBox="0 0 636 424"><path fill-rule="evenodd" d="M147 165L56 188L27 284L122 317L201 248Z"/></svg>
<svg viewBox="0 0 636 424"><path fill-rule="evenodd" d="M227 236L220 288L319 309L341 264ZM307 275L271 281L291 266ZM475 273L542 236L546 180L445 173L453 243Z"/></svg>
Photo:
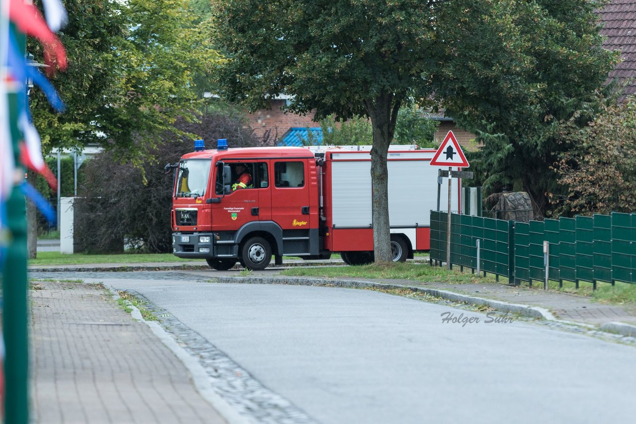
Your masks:
<svg viewBox="0 0 636 424"><path fill-rule="evenodd" d="M446 212L446 270L450 270L450 199L453 193L451 179L453 177L452 167L467 168L469 167L466 156L462 151L462 147L459 146L459 142L455 138L455 134L449 131L441 142L439 148L435 152L431 160L431 165L434 167L448 167L448 209ZM441 187L441 177L444 172L440 170L438 177L438 210L439 210L439 188ZM457 173L458 178L464 175Z"/></svg>

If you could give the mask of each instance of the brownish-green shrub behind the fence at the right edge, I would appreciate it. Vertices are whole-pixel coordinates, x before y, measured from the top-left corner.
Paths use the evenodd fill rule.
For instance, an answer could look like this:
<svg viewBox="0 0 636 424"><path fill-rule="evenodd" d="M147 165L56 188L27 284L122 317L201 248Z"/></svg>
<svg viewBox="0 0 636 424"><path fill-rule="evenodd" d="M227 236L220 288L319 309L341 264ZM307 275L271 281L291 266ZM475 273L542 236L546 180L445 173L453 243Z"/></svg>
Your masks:
<svg viewBox="0 0 636 424"><path fill-rule="evenodd" d="M586 127L576 117L562 130L567 146L556 165L567 196L551 196L562 214L631 213L636 209L636 99L604 106Z"/></svg>

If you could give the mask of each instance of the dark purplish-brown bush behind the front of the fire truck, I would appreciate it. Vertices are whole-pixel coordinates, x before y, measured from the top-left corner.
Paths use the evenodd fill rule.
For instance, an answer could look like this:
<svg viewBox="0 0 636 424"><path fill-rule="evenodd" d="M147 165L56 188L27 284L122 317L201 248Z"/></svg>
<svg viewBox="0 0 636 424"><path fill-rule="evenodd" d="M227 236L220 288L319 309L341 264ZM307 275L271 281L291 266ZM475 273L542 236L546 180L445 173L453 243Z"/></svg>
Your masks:
<svg viewBox="0 0 636 424"><path fill-rule="evenodd" d="M232 147L259 146L253 130L244 127L239 115L215 111L198 123L178 121L175 127L206 140L208 148L216 139L226 138ZM123 251L124 242L144 252L172 252L173 174L163 166L175 163L193 150L191 137L166 134L163 142L138 167L121 163L111 151L97 154L85 166L75 215L75 242L88 253ZM144 181L144 179L146 181Z"/></svg>

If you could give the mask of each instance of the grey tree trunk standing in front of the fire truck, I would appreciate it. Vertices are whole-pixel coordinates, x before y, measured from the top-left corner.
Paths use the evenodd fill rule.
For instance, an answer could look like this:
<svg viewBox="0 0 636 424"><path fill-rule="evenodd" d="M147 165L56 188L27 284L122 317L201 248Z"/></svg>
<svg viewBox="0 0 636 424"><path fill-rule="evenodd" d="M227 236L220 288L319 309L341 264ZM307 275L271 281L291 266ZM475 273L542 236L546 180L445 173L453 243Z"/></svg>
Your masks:
<svg viewBox="0 0 636 424"><path fill-rule="evenodd" d="M375 263L391 263L387 153L395 132L399 101L395 100L392 93L381 93L375 102L366 102L366 109L373 128L373 148L371 149L373 253Z"/></svg>

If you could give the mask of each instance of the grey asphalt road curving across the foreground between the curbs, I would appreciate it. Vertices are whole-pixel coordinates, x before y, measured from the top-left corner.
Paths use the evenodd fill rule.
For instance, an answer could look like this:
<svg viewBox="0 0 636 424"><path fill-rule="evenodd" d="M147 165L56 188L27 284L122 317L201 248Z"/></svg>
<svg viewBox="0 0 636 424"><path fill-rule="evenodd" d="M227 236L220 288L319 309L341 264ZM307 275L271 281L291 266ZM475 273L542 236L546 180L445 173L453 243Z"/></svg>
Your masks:
<svg viewBox="0 0 636 424"><path fill-rule="evenodd" d="M173 276L100 280L322 423L633 422L632 346L378 292ZM442 320L460 314L480 322Z"/></svg>

